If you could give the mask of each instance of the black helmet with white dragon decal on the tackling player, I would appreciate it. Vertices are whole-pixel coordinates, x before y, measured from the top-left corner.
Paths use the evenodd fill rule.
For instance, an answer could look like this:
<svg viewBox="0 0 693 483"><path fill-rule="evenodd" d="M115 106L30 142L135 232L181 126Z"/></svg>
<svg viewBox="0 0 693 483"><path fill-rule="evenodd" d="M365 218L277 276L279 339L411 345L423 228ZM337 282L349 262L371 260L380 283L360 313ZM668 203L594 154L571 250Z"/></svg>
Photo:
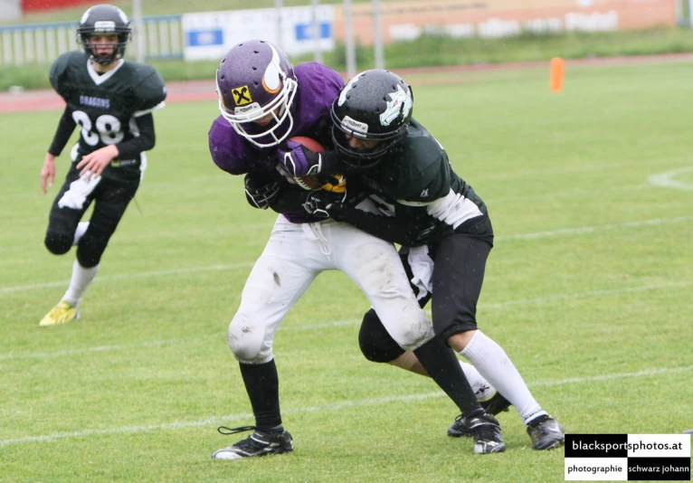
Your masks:
<svg viewBox="0 0 693 483"><path fill-rule="evenodd" d="M354 167L374 166L406 136L412 118L412 89L390 71L361 72L346 83L332 103L332 138L344 161ZM370 150L350 147L346 137L377 141Z"/></svg>

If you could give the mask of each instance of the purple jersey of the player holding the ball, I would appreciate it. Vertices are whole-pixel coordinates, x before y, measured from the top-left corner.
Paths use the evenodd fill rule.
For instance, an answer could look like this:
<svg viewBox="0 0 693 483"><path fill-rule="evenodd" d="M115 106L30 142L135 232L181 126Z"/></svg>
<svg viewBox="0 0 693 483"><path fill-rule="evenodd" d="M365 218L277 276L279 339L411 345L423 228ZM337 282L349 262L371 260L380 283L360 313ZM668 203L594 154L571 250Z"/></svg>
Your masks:
<svg viewBox="0 0 693 483"><path fill-rule="evenodd" d="M293 127L289 137L311 137L324 147L332 147L330 108L344 87L344 81L337 71L318 62L299 63L294 72L299 87L290 107ZM277 147L254 146L236 133L222 116L214 119L209 130L209 151L214 164L232 175L277 173ZM292 223L318 220L300 205L291 213L282 214Z"/></svg>

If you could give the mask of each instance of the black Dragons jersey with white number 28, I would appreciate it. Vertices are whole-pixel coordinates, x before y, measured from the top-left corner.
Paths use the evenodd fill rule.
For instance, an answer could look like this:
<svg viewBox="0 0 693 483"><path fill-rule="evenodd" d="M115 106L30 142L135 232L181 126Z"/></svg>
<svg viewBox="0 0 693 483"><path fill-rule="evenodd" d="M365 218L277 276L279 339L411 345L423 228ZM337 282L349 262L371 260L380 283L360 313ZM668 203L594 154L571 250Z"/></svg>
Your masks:
<svg viewBox="0 0 693 483"><path fill-rule="evenodd" d="M138 136L137 118L163 107L166 99L164 80L153 67L123 61L100 75L85 52L63 53L52 63L50 80L81 131L72 161Z"/></svg>

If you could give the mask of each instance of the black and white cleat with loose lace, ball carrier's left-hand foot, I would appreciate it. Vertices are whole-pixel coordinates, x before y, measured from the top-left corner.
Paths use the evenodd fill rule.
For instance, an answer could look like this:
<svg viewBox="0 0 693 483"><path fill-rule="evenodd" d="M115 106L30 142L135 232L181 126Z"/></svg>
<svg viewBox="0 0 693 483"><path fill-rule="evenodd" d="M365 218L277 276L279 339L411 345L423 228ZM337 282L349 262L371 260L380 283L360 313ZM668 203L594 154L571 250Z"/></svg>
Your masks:
<svg viewBox="0 0 693 483"><path fill-rule="evenodd" d="M218 431L222 434L235 434L242 431L253 432L245 440L240 440L233 446L214 451L212 459L242 459L293 451L293 440L289 431L262 432L258 431L255 426L243 426L242 428L221 426Z"/></svg>

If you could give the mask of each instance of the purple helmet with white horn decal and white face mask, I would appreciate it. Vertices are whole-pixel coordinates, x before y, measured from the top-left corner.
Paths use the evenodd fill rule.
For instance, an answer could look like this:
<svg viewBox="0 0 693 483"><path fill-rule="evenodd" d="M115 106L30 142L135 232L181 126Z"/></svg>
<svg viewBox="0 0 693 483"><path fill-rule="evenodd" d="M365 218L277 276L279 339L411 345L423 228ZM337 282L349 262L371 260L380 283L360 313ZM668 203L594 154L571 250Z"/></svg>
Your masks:
<svg viewBox="0 0 693 483"><path fill-rule="evenodd" d="M223 118L258 147L276 146L289 136L297 87L286 53L261 40L234 45L216 70Z"/></svg>

